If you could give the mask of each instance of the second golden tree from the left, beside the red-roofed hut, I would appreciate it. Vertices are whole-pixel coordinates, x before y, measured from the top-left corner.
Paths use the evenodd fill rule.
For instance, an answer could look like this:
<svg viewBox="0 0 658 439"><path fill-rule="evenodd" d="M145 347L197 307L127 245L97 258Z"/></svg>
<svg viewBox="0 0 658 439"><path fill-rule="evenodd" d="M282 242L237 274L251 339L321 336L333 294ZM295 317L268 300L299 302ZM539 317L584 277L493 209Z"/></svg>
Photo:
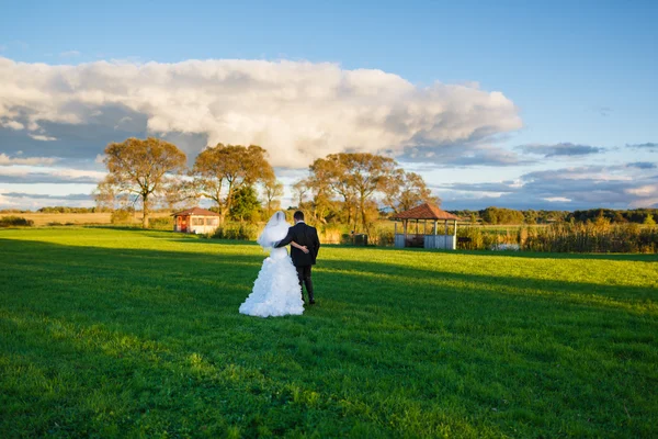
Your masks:
<svg viewBox="0 0 658 439"><path fill-rule="evenodd" d="M266 151L256 145L217 144L196 157L191 172L194 184L200 195L217 203L222 221L230 212L238 190L274 177L265 155Z"/></svg>

